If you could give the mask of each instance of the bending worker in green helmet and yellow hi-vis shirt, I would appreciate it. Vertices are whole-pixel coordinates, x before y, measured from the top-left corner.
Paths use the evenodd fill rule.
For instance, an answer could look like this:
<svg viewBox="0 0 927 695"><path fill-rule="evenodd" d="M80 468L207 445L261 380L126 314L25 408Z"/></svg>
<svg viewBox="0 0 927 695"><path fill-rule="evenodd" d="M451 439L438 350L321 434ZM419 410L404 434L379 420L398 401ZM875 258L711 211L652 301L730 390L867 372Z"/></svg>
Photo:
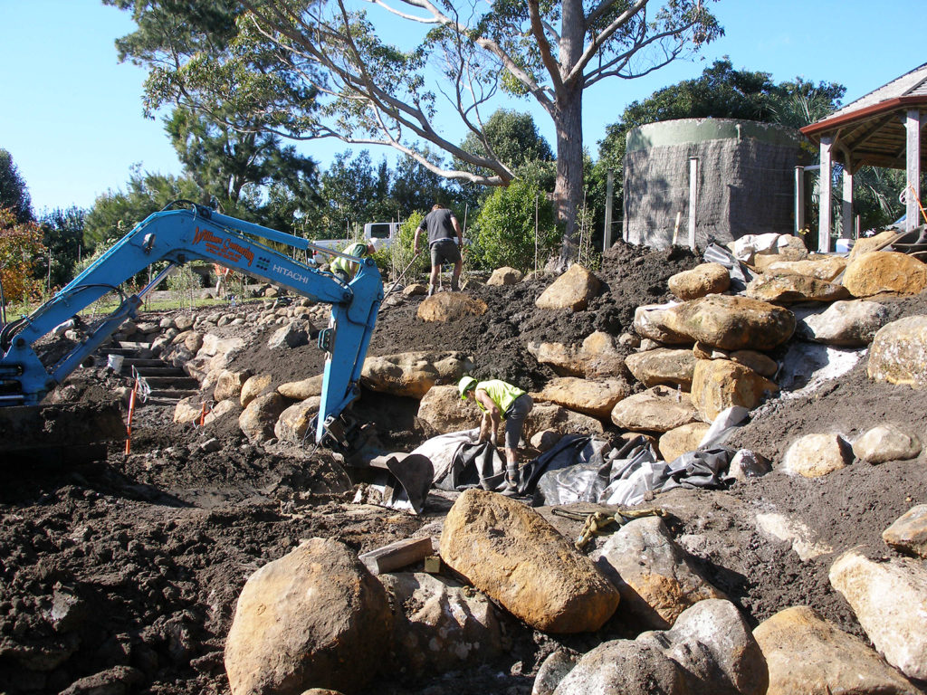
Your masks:
<svg viewBox="0 0 927 695"><path fill-rule="evenodd" d="M518 441L534 401L523 390L501 379L477 382L472 376L464 376L457 389L464 400L472 396L483 411L480 442L489 439L495 445L499 423L505 421L505 482L514 488L518 485Z"/></svg>

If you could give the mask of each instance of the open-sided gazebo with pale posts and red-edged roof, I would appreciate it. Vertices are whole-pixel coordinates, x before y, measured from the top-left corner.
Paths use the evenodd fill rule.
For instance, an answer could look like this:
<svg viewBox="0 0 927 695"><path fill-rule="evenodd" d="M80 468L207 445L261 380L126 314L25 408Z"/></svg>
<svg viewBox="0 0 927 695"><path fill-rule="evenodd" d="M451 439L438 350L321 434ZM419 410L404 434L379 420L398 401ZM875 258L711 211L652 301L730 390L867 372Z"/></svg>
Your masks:
<svg viewBox="0 0 927 695"><path fill-rule="evenodd" d="M927 167L927 63L870 92L849 106L801 129L820 147L820 180L831 180L834 161L844 166L843 235L853 224L853 174L860 167L908 172L906 227L921 217L921 171ZM831 250L831 186L820 186L819 251Z"/></svg>

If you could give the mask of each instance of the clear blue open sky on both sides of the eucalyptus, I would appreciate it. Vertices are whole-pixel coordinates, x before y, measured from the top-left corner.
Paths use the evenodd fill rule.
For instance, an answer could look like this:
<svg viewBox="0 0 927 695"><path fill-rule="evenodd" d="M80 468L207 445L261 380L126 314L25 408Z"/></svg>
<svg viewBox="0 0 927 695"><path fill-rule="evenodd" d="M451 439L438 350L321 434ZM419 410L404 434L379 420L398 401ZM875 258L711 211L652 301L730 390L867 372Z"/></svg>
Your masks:
<svg viewBox="0 0 927 695"><path fill-rule="evenodd" d="M596 155L605 126L634 100L701 74L718 57L737 69L764 70L775 82L800 75L840 82L844 103L927 62L925 0L719 0L726 36L693 60L636 81L603 82L587 92L583 138ZM124 189L133 165L180 173L159 120L142 114L144 69L117 61L113 41L133 31L128 13L97 0L0 0L0 148L29 187L32 206L89 208ZM549 120L527 101L553 142ZM463 139L463 134L461 135ZM347 145L310 143L303 151L327 167ZM375 161L387 150L371 149Z"/></svg>

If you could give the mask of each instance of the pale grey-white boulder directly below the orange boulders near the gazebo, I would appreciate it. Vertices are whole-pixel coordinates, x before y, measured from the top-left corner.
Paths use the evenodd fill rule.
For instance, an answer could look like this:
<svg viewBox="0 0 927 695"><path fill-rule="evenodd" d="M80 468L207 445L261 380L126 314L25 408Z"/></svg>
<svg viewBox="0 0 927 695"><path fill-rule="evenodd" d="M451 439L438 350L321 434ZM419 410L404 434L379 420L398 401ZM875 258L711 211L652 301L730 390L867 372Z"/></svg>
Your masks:
<svg viewBox="0 0 927 695"><path fill-rule="evenodd" d="M825 345L863 347L888 322L888 309L878 302L855 299L834 302L820 313L796 312L795 333Z"/></svg>

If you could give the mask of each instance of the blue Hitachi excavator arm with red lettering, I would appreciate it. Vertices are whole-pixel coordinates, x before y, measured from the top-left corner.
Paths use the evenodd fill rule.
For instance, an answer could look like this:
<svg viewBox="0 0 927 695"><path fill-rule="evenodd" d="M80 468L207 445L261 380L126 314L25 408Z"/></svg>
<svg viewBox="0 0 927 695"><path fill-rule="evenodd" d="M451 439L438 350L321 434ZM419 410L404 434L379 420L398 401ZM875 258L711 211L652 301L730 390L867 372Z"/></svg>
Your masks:
<svg viewBox="0 0 927 695"><path fill-rule="evenodd" d="M171 266L179 266L201 259L332 305L329 327L319 335L319 345L327 352L315 432L316 441L322 441L328 428L356 398L363 360L383 300L380 273L373 259L352 258L360 262L360 270L345 284L333 275L261 244L254 236L298 249L314 247L306 239L197 205L190 209L162 210L139 222L55 297L30 316L10 322L0 331L0 406L37 405L125 319L135 315L142 303L140 297L159 284L167 271L138 295L123 297L121 305L91 335L46 368L32 346L58 324L96 299L118 290L120 284L155 262L166 260ZM324 251L331 253L329 249Z"/></svg>

